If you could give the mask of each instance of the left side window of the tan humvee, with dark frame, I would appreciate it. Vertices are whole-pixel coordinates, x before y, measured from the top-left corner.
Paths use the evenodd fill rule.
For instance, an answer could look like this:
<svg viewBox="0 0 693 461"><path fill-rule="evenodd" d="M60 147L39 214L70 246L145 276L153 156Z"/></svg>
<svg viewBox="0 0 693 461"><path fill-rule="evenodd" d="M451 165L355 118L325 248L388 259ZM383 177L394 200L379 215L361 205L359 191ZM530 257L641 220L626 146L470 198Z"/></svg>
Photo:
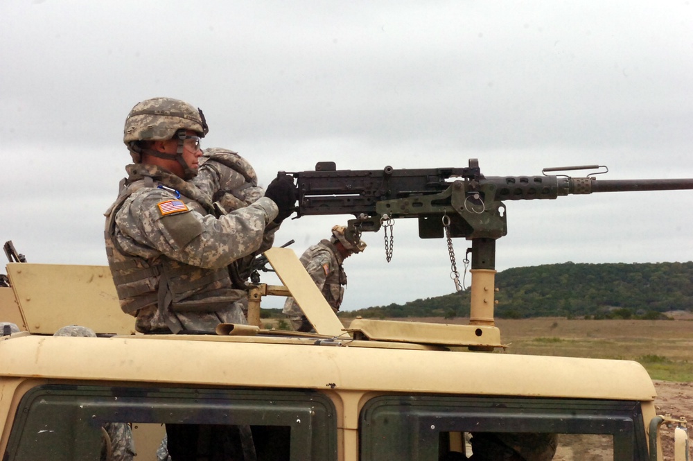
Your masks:
<svg viewBox="0 0 693 461"><path fill-rule="evenodd" d="M317 392L67 385L21 399L5 459L101 460L132 441L154 460L164 435L165 450L198 458L337 459L335 410Z"/></svg>

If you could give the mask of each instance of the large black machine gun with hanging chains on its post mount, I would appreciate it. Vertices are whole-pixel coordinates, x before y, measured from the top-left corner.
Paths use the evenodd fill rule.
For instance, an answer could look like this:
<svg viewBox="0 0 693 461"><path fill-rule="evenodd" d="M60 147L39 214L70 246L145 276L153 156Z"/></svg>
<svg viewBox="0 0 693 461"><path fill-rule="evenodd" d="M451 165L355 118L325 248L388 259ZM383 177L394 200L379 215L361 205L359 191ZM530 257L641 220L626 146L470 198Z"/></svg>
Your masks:
<svg viewBox="0 0 693 461"><path fill-rule="evenodd" d="M602 171L602 168L604 171ZM586 177L559 171L594 170ZM337 170L319 162L296 180L297 217L351 214L347 232L375 232L397 218L418 218L421 238L471 240L471 324L493 324L495 241L507 234L504 200L545 200L562 195L693 189L693 179L597 180L606 166L545 168L541 176L482 175L477 159L466 168ZM392 229L391 229L392 232ZM392 234L390 235L392 238ZM449 243L450 244L450 243ZM450 244L451 246L451 244ZM386 253L387 253L386 248ZM390 241L388 260L392 256ZM452 256L452 254L451 254ZM453 258L451 258L453 259ZM454 259L451 261L454 268ZM456 272L456 269L454 270ZM457 284L457 282L456 282Z"/></svg>

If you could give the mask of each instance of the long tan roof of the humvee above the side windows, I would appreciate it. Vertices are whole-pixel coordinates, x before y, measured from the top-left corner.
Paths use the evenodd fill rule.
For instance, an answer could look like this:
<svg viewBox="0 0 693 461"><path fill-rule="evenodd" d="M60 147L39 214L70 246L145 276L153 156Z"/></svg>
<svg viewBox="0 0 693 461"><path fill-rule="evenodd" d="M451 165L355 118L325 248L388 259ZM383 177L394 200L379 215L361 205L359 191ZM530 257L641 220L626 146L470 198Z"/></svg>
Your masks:
<svg viewBox="0 0 693 461"><path fill-rule="evenodd" d="M656 397L649 375L632 361L393 349L372 342L360 347L360 343L368 341L233 336L72 338L16 333L0 340L0 379L24 376L193 387L637 401Z"/></svg>

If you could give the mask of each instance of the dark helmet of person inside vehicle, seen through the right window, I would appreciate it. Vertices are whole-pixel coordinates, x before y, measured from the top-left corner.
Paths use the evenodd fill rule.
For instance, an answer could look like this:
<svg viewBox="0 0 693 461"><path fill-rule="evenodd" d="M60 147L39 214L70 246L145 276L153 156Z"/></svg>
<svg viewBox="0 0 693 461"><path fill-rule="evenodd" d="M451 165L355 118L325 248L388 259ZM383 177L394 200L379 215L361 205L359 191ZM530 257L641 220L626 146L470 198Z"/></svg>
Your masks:
<svg viewBox="0 0 693 461"><path fill-rule="evenodd" d="M475 456L480 453L482 460L505 459L514 453L525 461L550 461L558 437L551 433L473 433L471 442Z"/></svg>

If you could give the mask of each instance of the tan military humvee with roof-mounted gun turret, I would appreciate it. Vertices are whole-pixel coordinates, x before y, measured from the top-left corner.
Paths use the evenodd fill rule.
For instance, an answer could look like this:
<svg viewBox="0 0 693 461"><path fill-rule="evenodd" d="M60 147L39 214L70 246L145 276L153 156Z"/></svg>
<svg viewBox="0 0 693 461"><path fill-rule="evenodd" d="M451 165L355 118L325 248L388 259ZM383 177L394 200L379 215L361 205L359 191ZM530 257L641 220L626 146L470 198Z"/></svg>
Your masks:
<svg viewBox="0 0 693 461"><path fill-rule="evenodd" d="M267 257L285 286L258 286L249 318L263 295L291 293L317 333L134 334L107 268L8 264L0 320L23 331L0 338L3 460L98 460L113 422L131 425L138 460L156 459L174 423L250 426L257 460L468 459L480 433L557 434L554 460L662 459L667 418L656 415L643 367L489 352L502 343L483 274L468 326L355 320L344 329L292 250ZM100 337L51 336L66 324Z"/></svg>

